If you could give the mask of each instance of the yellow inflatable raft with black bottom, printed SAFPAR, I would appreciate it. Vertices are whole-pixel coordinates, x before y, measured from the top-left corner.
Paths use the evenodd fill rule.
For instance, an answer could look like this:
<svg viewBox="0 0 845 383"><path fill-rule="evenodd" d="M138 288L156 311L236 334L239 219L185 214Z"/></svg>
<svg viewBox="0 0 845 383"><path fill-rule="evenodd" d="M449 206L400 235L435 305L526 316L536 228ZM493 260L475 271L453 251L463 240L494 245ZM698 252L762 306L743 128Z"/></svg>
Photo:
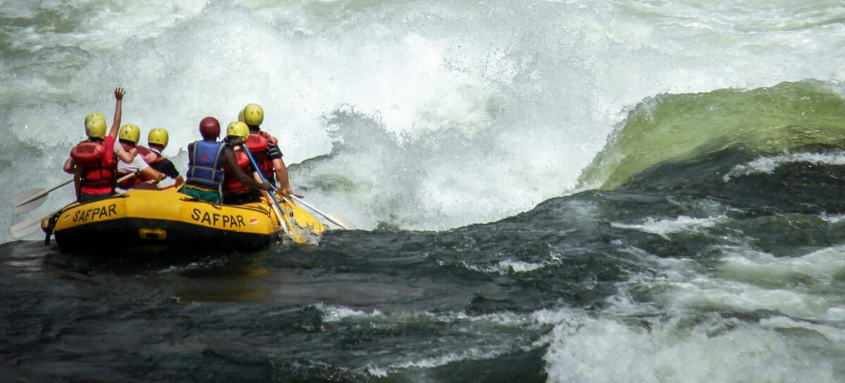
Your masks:
<svg viewBox="0 0 845 383"><path fill-rule="evenodd" d="M53 233L63 250L119 246L106 251L145 245L254 251L286 232L296 243L324 232L323 224L299 206L286 201L281 207L285 227L264 202L218 205L176 189L130 190L106 200L67 205L41 222L41 228Z"/></svg>

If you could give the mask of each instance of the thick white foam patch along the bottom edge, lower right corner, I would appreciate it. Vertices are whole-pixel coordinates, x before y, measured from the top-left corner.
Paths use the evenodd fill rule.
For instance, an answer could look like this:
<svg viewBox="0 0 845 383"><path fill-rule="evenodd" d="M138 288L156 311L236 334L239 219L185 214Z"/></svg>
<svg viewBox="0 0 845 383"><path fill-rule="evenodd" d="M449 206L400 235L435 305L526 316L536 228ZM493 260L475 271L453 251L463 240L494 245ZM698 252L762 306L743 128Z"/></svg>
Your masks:
<svg viewBox="0 0 845 383"><path fill-rule="evenodd" d="M554 382L833 382L835 357L766 326L705 318L593 319L555 327L548 353Z"/></svg>

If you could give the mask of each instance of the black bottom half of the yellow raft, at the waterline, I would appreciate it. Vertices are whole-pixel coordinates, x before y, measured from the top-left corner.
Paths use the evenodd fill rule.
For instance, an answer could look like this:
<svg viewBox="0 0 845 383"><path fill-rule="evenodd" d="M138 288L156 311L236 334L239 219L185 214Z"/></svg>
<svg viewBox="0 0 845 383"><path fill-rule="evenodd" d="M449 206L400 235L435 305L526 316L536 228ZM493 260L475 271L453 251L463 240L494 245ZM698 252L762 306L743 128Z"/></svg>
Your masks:
<svg viewBox="0 0 845 383"><path fill-rule="evenodd" d="M184 222L123 218L94 222L55 233L64 251L114 252L143 246L164 246L191 250L254 252L270 246L277 236L226 232Z"/></svg>

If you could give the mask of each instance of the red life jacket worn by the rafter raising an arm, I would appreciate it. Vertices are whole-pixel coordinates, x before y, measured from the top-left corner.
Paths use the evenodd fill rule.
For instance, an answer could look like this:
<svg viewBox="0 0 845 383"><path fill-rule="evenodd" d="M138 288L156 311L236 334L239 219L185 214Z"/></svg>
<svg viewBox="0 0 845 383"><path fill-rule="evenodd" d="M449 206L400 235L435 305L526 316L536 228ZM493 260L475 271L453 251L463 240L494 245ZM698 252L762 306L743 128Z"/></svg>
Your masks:
<svg viewBox="0 0 845 383"><path fill-rule="evenodd" d="M85 140L70 150L76 166L82 168L80 191L85 194L112 194L117 179L117 161L114 157L114 139Z"/></svg>

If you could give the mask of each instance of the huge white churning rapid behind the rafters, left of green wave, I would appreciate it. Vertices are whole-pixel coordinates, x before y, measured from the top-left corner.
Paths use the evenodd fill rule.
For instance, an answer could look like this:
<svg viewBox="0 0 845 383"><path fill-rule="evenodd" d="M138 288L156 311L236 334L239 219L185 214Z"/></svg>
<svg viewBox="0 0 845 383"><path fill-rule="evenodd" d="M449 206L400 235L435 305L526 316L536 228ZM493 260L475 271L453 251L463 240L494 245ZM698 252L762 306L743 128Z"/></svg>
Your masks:
<svg viewBox="0 0 845 383"><path fill-rule="evenodd" d="M288 164L335 149L293 172L315 203L440 230L570 193L646 97L845 79L836 2L53 5L0 5L10 196L67 177L81 118L111 115L117 85L123 121L170 129L182 169L200 118L259 102Z"/></svg>

